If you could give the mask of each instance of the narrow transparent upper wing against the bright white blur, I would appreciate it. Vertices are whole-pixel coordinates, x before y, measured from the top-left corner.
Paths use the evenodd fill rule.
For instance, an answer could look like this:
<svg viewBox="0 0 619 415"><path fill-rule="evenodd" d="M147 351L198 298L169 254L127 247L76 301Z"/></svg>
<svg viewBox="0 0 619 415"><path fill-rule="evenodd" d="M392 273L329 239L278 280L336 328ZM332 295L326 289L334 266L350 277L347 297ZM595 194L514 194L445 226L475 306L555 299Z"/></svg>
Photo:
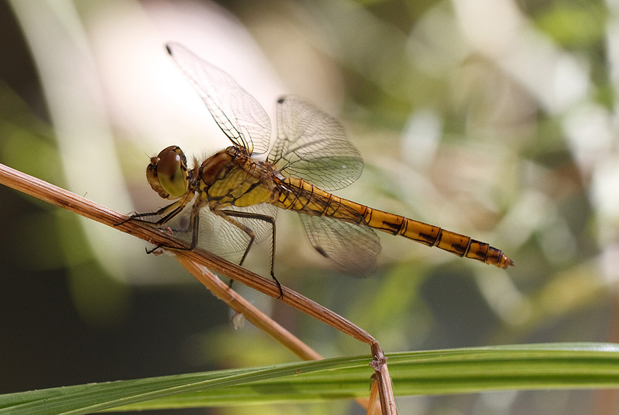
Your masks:
<svg viewBox="0 0 619 415"><path fill-rule="evenodd" d="M250 153L265 153L270 144L271 121L258 101L232 76L202 61L184 46L169 43L166 48L230 141Z"/></svg>

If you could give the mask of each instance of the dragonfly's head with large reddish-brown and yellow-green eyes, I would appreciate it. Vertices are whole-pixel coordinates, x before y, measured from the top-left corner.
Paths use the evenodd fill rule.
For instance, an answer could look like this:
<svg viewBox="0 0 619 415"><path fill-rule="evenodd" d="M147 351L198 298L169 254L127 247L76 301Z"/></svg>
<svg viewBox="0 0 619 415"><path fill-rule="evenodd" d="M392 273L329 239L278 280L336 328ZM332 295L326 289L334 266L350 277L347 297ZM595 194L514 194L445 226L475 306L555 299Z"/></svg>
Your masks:
<svg viewBox="0 0 619 415"><path fill-rule="evenodd" d="M146 178L153 190L164 199L178 199L187 193L187 159L180 147L166 147L157 157L151 157L151 164L146 167Z"/></svg>

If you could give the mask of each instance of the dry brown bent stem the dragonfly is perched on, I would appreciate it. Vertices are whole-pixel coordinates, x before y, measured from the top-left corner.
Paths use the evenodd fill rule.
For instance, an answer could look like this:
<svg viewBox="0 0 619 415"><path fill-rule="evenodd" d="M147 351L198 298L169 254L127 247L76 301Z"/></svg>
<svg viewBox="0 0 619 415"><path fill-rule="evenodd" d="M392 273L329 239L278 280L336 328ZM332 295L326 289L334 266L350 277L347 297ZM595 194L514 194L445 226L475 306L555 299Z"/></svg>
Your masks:
<svg viewBox="0 0 619 415"><path fill-rule="evenodd" d="M195 270L195 272L192 272L191 270L190 272L196 279L202 282L202 284L207 286L209 289L211 284L213 284L214 287L217 286L217 290L221 288L221 295L217 295L216 293L217 297L224 299L224 301L226 301L226 303L237 312L242 312L243 315L245 315L245 317L255 326L274 336L278 341L281 341L281 343L283 343L287 348L290 348L290 350L302 359L321 359L320 355L314 352L314 350L308 348L307 345L304 345L298 339L294 338L292 334L281 328L279 324L274 321L268 322L270 321L268 317L259 312L259 310L255 310L254 307L251 306L251 304L248 304L244 299L241 301L241 297L226 286L226 284L219 281L217 277L213 275L219 283L210 281L211 278L206 277L208 274L205 273L204 268L200 268L199 266L204 266L215 270L217 273L226 275L228 278L239 281L246 286L254 288L254 290L258 290L263 292L265 295L270 295L271 297L277 299L279 297L279 288L274 281L265 279L260 275L252 273L246 268L242 268L237 264L232 264L232 262L221 259L220 257L204 251L203 249L196 248L193 251L188 251L188 244L186 242L178 240L168 233L160 231L158 228L149 226L149 224L144 224L142 222L124 222L127 220L127 215L113 211L105 206L92 202L91 200L87 200L79 195L76 195L75 193L61 189L60 187L56 187L53 184L47 183L43 180L34 178L25 173L21 173L15 169L11 169L4 164L0 164L0 183L5 184L6 186L17 191L31 195L34 198L38 198L50 204L54 204L55 206L78 213L78 215L95 220L96 222L116 228L118 231L139 237L140 239L151 242L152 244L171 248L180 248L180 250L171 250L171 252L175 253L177 260L185 266L185 268L188 270ZM219 287L219 284L223 284L226 288L224 289ZM291 306L292 308L296 308L296 310L304 312L310 317L323 321L323 323L327 323L329 326L348 334L354 339L371 345L373 356L371 366L375 370L375 379L377 381L375 382L375 386L376 383L378 383L378 392L382 403L382 414L395 414L395 401L393 400L391 379L389 378L386 359L376 339L374 339L365 330L355 326L347 319L337 315L335 312L332 312L328 308L321 306L307 297L303 297L303 295L298 294L298 292L290 290L290 288L286 288L285 286L281 286L281 290L283 291L283 297L279 298L279 301ZM232 301L229 303L226 298L232 299ZM232 304L234 304L234 306L232 306ZM283 334L284 332L285 334Z"/></svg>

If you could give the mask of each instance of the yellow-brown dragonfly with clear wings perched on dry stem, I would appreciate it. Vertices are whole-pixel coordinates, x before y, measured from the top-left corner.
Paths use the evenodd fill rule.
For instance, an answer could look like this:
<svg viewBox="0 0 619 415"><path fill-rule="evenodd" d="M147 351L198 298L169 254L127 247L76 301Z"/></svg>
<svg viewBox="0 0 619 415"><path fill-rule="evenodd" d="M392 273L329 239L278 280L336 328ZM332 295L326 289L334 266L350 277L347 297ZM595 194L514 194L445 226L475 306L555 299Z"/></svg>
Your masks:
<svg viewBox="0 0 619 415"><path fill-rule="evenodd" d="M195 159L191 168L180 147L163 149L151 158L146 177L154 191L174 202L131 219L166 226L189 209L175 228L191 240L189 249L199 244L241 265L254 242L270 236L270 274L280 292L274 275L277 209L299 213L312 247L351 275L376 270L380 240L375 229L499 268L514 265L485 242L329 193L347 187L363 169L338 120L304 98L282 96L271 146L269 116L232 76L183 45L169 43L166 49L232 146L202 162Z"/></svg>

